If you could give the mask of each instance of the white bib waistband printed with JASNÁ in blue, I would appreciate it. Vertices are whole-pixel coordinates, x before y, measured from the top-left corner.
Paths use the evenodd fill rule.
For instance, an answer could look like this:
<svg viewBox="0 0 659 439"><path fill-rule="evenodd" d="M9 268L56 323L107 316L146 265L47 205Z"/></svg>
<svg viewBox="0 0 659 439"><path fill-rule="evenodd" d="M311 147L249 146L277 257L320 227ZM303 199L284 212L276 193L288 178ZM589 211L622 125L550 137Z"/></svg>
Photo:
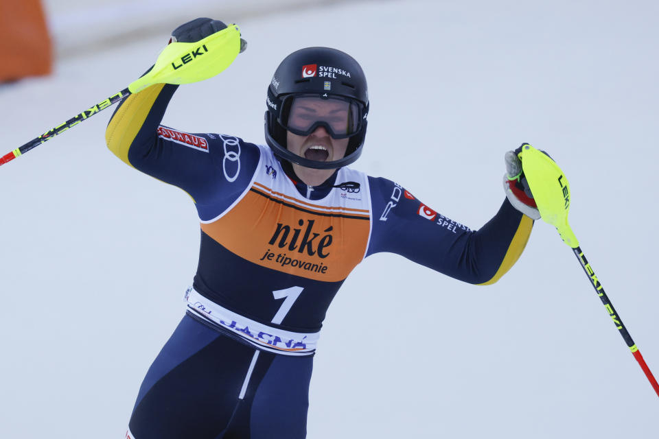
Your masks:
<svg viewBox="0 0 659 439"><path fill-rule="evenodd" d="M271 327L218 305L196 292L193 287L185 292L185 301L187 308L197 316L264 351L283 355L312 355L316 351L319 331L301 333Z"/></svg>

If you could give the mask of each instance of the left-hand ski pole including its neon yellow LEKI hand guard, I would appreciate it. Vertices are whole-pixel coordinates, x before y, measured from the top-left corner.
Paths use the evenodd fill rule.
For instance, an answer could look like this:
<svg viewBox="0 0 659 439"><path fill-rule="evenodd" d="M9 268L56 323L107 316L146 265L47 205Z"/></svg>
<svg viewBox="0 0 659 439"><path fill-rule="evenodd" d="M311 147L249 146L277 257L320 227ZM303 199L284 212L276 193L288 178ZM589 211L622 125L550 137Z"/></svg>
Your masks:
<svg viewBox="0 0 659 439"><path fill-rule="evenodd" d="M235 57L246 47L240 38L237 25L229 25L194 43L173 42L167 45L158 56L156 64L141 78L133 81L124 90L115 93L95 106L80 112L55 128L32 139L21 147L0 157L0 165L8 163L32 148L49 141L53 137L69 130L101 110L116 104L124 97L153 84L189 84L212 78L229 67Z"/></svg>

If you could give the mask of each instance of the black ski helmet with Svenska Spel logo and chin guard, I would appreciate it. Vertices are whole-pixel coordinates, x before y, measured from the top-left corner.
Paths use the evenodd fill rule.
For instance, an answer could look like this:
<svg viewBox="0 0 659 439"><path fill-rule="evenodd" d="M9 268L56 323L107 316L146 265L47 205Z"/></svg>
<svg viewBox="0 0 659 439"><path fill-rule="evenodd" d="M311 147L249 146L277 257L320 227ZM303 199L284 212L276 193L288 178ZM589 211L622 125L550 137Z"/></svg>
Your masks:
<svg viewBox="0 0 659 439"><path fill-rule="evenodd" d="M358 126L355 134L349 137L343 158L329 162L315 161L286 148L286 127L282 121L288 116L285 114L286 102L294 95L340 97L356 103ZM340 50L307 47L284 58L268 86L266 108L266 143L280 159L315 169L336 169L353 163L362 154L369 113L366 77L359 63Z"/></svg>

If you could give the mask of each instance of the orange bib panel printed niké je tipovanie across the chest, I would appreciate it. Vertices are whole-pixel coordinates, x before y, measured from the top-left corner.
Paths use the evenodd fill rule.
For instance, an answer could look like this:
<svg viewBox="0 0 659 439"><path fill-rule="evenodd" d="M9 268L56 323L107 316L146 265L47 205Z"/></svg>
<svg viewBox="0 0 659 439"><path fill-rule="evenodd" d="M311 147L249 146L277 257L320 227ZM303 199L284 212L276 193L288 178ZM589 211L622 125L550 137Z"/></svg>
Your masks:
<svg viewBox="0 0 659 439"><path fill-rule="evenodd" d="M369 212L317 206L255 183L231 211L201 224L250 262L316 281L343 281L364 258Z"/></svg>

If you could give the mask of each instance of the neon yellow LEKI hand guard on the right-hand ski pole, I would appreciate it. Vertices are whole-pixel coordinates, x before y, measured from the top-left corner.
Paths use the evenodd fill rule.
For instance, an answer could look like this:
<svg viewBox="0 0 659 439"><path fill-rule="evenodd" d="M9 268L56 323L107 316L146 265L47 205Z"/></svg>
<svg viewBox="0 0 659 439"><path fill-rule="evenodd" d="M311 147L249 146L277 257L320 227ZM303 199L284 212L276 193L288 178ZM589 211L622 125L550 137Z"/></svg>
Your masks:
<svg viewBox="0 0 659 439"><path fill-rule="evenodd" d="M579 241L568 224L570 184L563 171L548 155L528 143L522 145L518 156L543 221L558 230L565 244L577 248Z"/></svg>

